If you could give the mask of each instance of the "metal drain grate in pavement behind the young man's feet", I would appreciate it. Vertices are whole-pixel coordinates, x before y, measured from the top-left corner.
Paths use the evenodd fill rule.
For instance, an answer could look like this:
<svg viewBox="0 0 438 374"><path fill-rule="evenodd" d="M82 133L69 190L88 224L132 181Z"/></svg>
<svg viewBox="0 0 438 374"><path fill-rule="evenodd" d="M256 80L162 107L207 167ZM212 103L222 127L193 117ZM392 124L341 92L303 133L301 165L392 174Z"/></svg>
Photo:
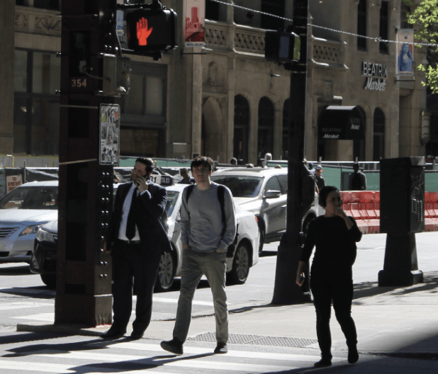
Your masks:
<svg viewBox="0 0 438 374"><path fill-rule="evenodd" d="M208 332L188 338L192 341L216 341L216 334ZM255 346L284 346L304 348L312 344L318 343L316 339L298 339L298 338L283 338L279 336L259 336L246 334L230 334L228 336L228 343L230 344L251 344Z"/></svg>

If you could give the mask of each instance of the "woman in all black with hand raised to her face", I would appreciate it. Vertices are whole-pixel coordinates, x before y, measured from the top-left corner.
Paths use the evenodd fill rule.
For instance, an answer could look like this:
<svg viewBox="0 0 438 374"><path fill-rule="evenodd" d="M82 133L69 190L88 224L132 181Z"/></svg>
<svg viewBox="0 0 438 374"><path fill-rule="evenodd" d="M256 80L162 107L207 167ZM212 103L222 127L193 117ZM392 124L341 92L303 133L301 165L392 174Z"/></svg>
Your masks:
<svg viewBox="0 0 438 374"><path fill-rule="evenodd" d="M331 304L337 321L347 339L348 362L359 360L357 334L352 319L353 276L352 266L356 259L356 242L362 234L353 217L342 210L339 190L333 186L321 189L319 204L325 215L310 222L303 254L298 266L296 283L303 284L304 271L316 246L310 271L310 289L316 311L316 333L321 349L318 368L332 365L332 338L330 335Z"/></svg>

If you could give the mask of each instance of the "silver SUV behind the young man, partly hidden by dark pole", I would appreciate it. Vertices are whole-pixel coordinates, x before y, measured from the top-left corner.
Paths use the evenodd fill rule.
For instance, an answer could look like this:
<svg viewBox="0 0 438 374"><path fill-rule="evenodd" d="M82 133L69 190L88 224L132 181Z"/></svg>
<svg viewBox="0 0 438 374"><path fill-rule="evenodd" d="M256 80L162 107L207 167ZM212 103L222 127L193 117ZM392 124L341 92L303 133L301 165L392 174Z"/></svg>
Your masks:
<svg viewBox="0 0 438 374"><path fill-rule="evenodd" d="M288 169L230 168L215 171L211 180L230 188L235 203L253 212L259 220L260 245L276 242L286 230ZM303 232L318 217L318 195L303 215Z"/></svg>

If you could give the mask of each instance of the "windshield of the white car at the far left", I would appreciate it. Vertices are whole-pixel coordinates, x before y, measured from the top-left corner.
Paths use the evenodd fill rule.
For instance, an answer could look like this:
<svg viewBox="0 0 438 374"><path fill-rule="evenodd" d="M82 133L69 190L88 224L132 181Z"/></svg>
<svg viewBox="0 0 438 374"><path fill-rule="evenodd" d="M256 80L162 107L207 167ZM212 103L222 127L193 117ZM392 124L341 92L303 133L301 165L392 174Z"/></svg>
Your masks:
<svg viewBox="0 0 438 374"><path fill-rule="evenodd" d="M57 210L56 186L28 186L15 188L0 199L0 209L47 209Z"/></svg>

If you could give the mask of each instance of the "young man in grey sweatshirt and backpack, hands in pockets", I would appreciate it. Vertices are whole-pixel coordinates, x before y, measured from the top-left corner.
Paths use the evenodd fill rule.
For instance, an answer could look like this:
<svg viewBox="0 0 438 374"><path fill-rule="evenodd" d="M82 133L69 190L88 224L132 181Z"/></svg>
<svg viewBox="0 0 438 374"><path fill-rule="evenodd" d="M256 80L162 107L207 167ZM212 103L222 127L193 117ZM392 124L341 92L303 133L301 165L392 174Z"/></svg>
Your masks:
<svg viewBox="0 0 438 374"><path fill-rule="evenodd" d="M228 246L235 239L236 217L231 191L210 180L212 171L212 159L196 157L191 163L196 185L185 188L182 196L181 291L173 339L161 343L164 350L175 354L183 353L183 344L189 334L193 295L203 275L210 283L215 306L218 344L214 352L228 352L226 254Z"/></svg>

